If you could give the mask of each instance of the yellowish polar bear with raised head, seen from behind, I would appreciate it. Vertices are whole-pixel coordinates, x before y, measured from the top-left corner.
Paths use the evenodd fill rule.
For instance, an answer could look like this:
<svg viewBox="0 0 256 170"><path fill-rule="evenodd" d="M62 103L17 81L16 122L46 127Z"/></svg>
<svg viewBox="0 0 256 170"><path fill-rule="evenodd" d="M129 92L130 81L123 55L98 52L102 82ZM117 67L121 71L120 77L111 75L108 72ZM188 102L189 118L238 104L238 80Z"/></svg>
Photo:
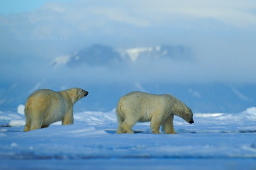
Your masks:
<svg viewBox="0 0 256 170"><path fill-rule="evenodd" d="M26 100L24 132L48 127L60 120L62 125L73 124L73 105L87 95L88 92L81 88L58 92L50 89L35 91Z"/></svg>

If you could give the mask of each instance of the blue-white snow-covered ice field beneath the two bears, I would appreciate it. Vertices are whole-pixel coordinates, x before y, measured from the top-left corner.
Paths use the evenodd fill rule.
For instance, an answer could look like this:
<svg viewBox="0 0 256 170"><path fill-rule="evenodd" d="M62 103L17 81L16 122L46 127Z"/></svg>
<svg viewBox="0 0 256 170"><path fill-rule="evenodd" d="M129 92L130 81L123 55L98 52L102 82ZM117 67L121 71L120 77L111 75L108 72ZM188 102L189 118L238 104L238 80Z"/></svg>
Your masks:
<svg viewBox="0 0 256 170"><path fill-rule="evenodd" d="M256 169L256 107L238 113L195 113L194 124L175 116L177 134L116 134L115 109L74 113L23 132L25 116L0 112L0 169Z"/></svg>

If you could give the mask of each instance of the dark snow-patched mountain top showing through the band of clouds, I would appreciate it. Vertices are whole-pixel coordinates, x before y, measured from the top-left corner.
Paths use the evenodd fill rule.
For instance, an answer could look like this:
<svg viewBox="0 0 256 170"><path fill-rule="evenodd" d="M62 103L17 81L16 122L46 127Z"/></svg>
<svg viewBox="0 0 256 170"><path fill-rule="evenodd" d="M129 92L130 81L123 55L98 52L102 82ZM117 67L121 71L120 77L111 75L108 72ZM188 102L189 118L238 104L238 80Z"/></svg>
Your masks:
<svg viewBox="0 0 256 170"><path fill-rule="evenodd" d="M107 45L91 45L80 51L75 51L70 56L60 56L52 60L50 65L68 65L76 67L85 63L87 65L109 65L128 59L136 62L141 57L148 59L158 59L170 57L172 59L189 59L191 56L189 49L182 45L157 45L154 47L140 48L112 48Z"/></svg>

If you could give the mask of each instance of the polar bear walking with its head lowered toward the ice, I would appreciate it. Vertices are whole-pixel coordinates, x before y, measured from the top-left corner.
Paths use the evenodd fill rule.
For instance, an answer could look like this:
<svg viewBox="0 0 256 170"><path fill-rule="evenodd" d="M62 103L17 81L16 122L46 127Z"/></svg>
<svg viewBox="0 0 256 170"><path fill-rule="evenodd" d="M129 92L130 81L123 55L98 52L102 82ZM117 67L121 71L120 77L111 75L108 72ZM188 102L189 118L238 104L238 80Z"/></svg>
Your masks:
<svg viewBox="0 0 256 170"><path fill-rule="evenodd" d="M176 133L173 116L177 115L188 123L194 123L193 113L185 103L170 94L148 94L134 91L122 96L116 107L118 129L116 133L134 133L136 122L149 122L153 133Z"/></svg>

